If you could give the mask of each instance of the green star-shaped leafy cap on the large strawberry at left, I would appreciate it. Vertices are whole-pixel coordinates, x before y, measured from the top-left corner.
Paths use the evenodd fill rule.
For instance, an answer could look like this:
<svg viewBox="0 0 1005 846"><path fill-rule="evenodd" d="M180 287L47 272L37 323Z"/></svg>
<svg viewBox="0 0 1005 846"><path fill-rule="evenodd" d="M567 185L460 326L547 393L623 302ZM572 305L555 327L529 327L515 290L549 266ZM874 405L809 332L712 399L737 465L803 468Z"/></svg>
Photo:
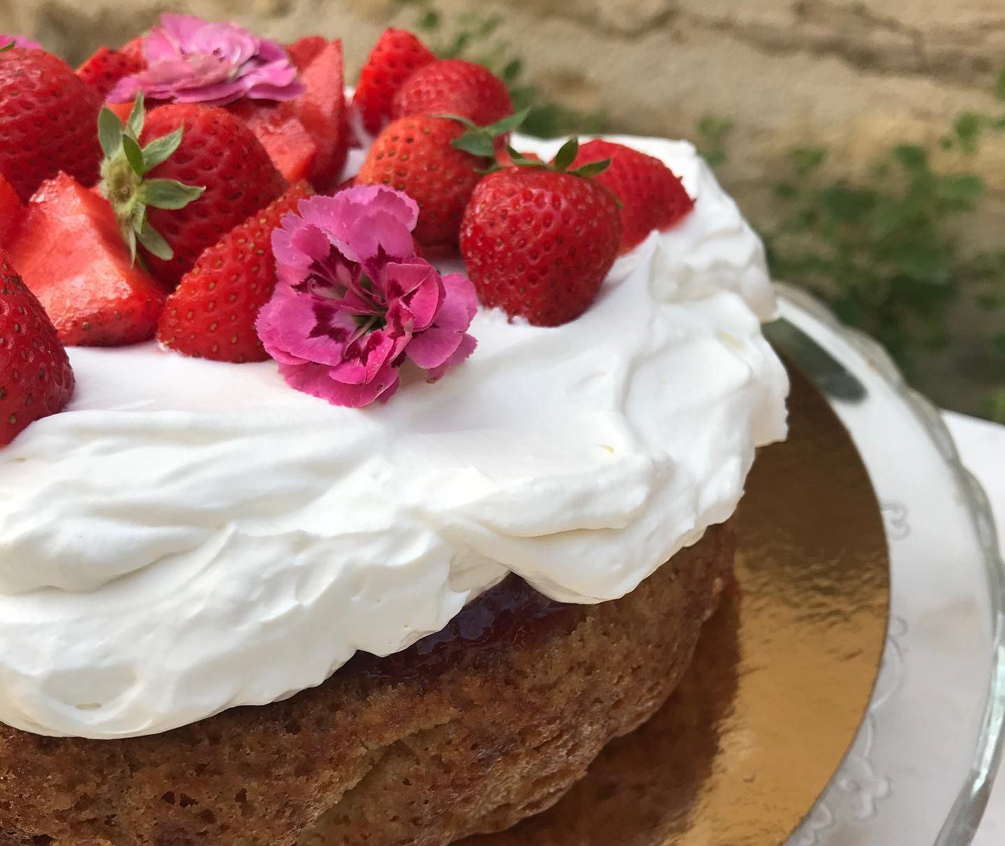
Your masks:
<svg viewBox="0 0 1005 846"><path fill-rule="evenodd" d="M171 245L147 220L147 209L182 209L199 199L206 189L200 185L185 185L173 179L148 179L147 174L167 159L182 143L183 129L154 139L140 147L140 134L145 119L143 91L125 126L110 109L97 116L97 139L105 152L102 162L102 195L112 204L119 230L136 261L137 243L165 260L174 255Z"/></svg>

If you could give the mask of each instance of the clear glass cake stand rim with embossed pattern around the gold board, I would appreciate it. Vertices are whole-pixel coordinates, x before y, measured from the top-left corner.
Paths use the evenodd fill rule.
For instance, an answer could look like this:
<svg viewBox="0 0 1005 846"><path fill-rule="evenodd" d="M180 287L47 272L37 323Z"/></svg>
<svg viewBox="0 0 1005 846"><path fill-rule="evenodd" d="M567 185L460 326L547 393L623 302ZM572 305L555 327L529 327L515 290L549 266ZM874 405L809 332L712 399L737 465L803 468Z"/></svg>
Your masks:
<svg viewBox="0 0 1005 846"><path fill-rule="evenodd" d="M965 846L1005 721L1005 567L987 499L936 409L875 342L806 293L779 293L782 320L769 337L850 433L880 502L891 568L888 636L866 716L786 846Z"/></svg>

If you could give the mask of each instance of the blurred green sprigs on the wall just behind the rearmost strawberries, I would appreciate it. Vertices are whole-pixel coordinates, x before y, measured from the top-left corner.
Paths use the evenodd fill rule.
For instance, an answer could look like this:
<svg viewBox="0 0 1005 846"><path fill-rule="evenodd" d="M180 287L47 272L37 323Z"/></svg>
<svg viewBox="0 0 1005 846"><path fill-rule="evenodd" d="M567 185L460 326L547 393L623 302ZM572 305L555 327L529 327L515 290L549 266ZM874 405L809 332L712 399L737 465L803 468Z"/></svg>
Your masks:
<svg viewBox="0 0 1005 846"><path fill-rule="evenodd" d="M436 55L483 64L507 83L514 109L528 110L521 132L539 138L557 138L596 135L607 129L602 113L582 112L555 102L527 80L523 59L507 41L497 37L501 15L473 8L458 14L456 20L447 20L436 8L435 0L398 0L398 3L414 11L414 27Z"/></svg>

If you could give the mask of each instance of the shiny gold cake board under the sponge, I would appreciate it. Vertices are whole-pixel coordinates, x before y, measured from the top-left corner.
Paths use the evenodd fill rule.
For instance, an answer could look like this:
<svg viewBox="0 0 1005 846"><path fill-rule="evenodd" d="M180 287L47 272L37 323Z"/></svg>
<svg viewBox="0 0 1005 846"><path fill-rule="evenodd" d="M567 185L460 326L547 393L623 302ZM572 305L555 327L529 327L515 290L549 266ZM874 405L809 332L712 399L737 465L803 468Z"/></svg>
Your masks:
<svg viewBox="0 0 1005 846"><path fill-rule="evenodd" d="M875 683L889 562L850 438L790 375L790 437L758 457L737 582L676 692L554 808L463 846L779 846L823 792Z"/></svg>

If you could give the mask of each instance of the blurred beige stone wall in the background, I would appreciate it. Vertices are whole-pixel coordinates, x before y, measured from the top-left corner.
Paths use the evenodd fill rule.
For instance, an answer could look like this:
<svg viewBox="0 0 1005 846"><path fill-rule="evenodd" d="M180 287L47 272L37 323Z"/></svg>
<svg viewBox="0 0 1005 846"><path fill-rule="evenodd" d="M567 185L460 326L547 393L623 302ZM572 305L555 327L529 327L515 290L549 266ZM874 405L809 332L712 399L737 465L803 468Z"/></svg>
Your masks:
<svg viewBox="0 0 1005 846"><path fill-rule="evenodd" d="M787 171L793 146L828 144L830 171L862 175L877 149L934 144L962 110L994 111L994 77L1005 66L1005 0L437 6L448 18L472 8L502 14L499 36L525 58L528 77L558 101L602 110L618 131L692 137L701 116L729 116L735 128L720 175L762 225L774 213L769 186ZM280 39L341 36L350 79L385 26L415 19L394 0L0 0L0 31L36 37L75 62L165 10L233 18ZM990 194L961 236L975 249L1005 246L1005 141L989 140L966 166L982 174ZM988 326L975 329L975 316ZM974 410L981 389L968 370L971 339L990 333L992 318L961 321L967 331L928 363L925 387L944 404Z"/></svg>

